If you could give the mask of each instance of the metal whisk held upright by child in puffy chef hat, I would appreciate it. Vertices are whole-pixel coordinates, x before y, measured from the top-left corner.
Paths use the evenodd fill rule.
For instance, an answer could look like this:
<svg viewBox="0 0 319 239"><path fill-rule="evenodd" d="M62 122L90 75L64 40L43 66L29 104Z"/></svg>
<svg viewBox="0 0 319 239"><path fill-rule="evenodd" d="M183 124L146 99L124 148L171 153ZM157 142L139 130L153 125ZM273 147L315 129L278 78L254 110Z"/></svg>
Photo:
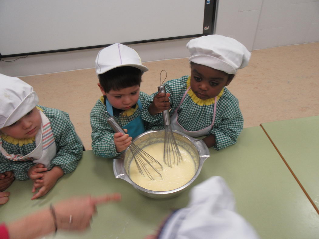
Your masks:
<svg viewBox="0 0 319 239"><path fill-rule="evenodd" d="M165 71L162 70L160 72L160 78L161 78L161 73ZM166 71L165 71L166 72ZM167 76L167 74L166 74ZM165 77L166 79L166 77ZM163 80L163 82L165 81ZM165 86L162 85L163 82L160 79L160 86L157 87L158 91L160 93L165 93ZM176 144L176 140L172 131L171 127L171 119L169 116L169 110L164 110L162 112L163 115L163 121L164 121L164 127L165 127L165 135L164 135L164 163L166 163L169 167L172 167L173 164L178 165L182 161L182 155L179 151L179 148Z"/></svg>

